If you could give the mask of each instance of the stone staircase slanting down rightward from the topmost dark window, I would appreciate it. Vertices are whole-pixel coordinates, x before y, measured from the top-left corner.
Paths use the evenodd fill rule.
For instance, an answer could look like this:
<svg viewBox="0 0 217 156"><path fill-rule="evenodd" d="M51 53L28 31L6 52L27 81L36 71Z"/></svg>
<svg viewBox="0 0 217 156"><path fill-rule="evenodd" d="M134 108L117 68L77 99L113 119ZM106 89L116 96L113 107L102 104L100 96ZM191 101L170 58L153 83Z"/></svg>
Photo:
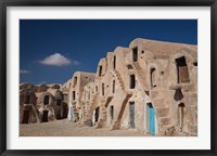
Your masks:
<svg viewBox="0 0 217 156"><path fill-rule="evenodd" d="M138 76L138 80L141 83L144 91L149 90L148 83L146 83L146 73L142 69L142 67L139 65L138 62L133 62L132 66L135 67L136 75Z"/></svg>

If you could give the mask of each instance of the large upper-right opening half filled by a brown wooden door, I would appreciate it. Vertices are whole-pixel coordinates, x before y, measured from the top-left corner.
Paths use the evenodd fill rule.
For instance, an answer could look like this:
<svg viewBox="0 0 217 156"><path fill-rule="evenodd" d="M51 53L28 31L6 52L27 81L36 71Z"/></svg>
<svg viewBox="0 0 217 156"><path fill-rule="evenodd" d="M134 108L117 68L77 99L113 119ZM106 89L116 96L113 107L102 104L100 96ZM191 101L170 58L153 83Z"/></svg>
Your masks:
<svg viewBox="0 0 217 156"><path fill-rule="evenodd" d="M178 83L190 82L186 57L182 56L176 58L176 65L177 65L177 82Z"/></svg>

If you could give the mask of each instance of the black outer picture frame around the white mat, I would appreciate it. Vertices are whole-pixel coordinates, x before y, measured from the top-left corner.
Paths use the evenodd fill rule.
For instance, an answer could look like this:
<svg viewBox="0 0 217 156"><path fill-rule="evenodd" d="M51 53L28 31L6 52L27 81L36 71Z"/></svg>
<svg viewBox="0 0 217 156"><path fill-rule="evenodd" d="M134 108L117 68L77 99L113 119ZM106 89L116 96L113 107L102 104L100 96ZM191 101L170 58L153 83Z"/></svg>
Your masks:
<svg viewBox="0 0 217 156"><path fill-rule="evenodd" d="M210 150L7 150L7 6L210 6ZM0 0L0 154L2 156L217 156L217 0Z"/></svg>

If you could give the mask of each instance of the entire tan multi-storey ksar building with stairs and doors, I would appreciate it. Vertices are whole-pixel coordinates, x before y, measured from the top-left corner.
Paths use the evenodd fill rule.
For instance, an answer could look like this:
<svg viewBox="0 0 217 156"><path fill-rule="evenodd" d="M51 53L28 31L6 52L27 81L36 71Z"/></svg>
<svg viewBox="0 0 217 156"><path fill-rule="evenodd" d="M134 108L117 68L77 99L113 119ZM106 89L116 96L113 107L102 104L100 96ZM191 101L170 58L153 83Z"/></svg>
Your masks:
<svg viewBox="0 0 217 156"><path fill-rule="evenodd" d="M197 135L196 46L135 39L129 48L107 52L97 73L76 72L56 86L21 90L21 122L67 113L69 120L95 128Z"/></svg>

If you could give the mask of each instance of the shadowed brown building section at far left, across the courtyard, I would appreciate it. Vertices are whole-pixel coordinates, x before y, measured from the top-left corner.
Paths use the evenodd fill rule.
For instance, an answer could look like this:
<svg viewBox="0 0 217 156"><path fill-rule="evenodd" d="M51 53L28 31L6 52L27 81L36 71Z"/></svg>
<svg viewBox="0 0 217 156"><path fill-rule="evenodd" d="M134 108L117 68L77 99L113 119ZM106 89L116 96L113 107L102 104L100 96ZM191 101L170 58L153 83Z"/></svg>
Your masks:
<svg viewBox="0 0 217 156"><path fill-rule="evenodd" d="M68 105L60 84L20 84L20 123L67 118Z"/></svg>

